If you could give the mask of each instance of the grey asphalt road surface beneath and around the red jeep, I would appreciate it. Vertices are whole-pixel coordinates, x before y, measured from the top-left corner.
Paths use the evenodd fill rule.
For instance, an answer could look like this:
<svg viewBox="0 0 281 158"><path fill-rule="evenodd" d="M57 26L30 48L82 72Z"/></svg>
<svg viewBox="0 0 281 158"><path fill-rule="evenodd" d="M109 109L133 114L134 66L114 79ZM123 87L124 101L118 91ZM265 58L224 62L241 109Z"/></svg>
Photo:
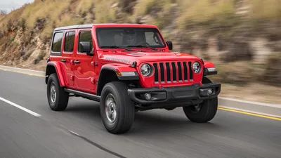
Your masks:
<svg viewBox="0 0 281 158"><path fill-rule="evenodd" d="M0 100L0 157L281 157L281 121L218 110L195 124L181 108L137 112L129 133L103 127L99 105L70 98L51 111L44 78L0 70L0 97L32 110L34 117Z"/></svg>

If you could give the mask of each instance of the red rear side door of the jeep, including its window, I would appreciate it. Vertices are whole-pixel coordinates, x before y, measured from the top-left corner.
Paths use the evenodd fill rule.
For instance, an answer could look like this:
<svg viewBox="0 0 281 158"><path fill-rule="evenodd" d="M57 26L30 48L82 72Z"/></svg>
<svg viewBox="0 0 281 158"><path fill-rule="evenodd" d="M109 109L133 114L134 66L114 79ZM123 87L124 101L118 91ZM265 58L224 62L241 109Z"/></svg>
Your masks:
<svg viewBox="0 0 281 158"><path fill-rule="evenodd" d="M73 60L74 60L74 41L75 41L75 34L76 30L67 30L65 32L65 40L63 43L63 55L62 55L62 60L65 64L65 70L67 73L67 82L70 86L70 88L73 88L74 86L74 65L73 65ZM77 48L76 48L77 49Z"/></svg>

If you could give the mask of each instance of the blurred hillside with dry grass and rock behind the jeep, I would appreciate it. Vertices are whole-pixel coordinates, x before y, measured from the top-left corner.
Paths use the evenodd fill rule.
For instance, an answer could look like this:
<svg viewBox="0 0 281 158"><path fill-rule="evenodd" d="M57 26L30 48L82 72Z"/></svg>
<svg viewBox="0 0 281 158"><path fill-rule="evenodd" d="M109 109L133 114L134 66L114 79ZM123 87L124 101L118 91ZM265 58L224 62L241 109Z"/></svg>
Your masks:
<svg viewBox="0 0 281 158"><path fill-rule="evenodd" d="M174 51L214 62L219 74L212 79L226 85L226 91L233 94L240 91L237 86L243 86L245 91L250 87L258 91L257 94L249 92L254 93L252 96L262 94L267 102L272 96L281 96L281 6L278 2L35 0L0 16L0 64L44 70L55 27L105 22L147 23L157 25L165 39L174 42ZM268 87L276 91L265 93Z"/></svg>

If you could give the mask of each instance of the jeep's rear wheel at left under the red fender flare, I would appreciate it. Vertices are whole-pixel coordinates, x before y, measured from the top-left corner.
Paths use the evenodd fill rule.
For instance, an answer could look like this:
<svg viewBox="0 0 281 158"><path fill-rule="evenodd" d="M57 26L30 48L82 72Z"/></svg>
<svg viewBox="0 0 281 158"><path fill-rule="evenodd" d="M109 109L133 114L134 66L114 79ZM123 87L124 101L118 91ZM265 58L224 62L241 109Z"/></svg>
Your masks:
<svg viewBox="0 0 281 158"><path fill-rule="evenodd" d="M51 74L48 77L47 96L51 110L61 111L67 107L69 93L60 87L57 74Z"/></svg>

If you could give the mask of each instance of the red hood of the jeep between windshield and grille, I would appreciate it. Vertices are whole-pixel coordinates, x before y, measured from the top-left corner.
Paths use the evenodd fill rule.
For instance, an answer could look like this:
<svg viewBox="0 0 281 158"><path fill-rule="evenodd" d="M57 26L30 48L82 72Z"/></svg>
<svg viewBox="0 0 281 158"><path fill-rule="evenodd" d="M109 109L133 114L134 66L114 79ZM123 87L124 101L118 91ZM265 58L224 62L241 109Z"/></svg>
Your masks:
<svg viewBox="0 0 281 158"><path fill-rule="evenodd" d="M123 62L131 65L137 62L137 66L142 62L155 62L155 61L176 61L176 60L200 60L195 55L178 52L161 52L161 51L129 51L122 53L103 53L100 54L101 60L112 60L115 62Z"/></svg>

